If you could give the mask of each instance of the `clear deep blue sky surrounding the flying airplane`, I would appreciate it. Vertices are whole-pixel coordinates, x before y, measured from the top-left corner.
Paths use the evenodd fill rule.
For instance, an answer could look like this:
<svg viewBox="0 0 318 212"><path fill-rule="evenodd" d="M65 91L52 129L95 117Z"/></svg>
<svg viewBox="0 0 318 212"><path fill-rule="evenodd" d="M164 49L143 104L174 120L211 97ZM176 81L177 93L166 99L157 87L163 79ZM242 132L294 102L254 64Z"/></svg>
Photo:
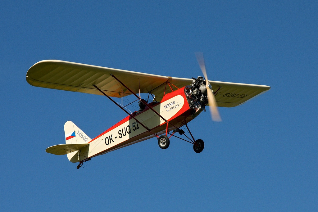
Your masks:
<svg viewBox="0 0 318 212"><path fill-rule="evenodd" d="M0 3L0 210L313 211L318 208L317 1ZM136 3L138 2L138 3ZM123 117L106 97L38 88L44 59L269 85L222 122L190 122L205 141L155 138L77 170L45 149L73 121L95 137Z"/></svg>

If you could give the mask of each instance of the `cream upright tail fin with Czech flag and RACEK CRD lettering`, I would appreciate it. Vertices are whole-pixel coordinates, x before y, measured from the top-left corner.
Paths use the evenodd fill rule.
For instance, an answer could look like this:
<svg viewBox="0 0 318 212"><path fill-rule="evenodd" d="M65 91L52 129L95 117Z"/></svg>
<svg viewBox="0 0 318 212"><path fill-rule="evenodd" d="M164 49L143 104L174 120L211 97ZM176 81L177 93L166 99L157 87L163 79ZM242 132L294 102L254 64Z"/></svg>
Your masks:
<svg viewBox="0 0 318 212"><path fill-rule="evenodd" d="M64 131L66 144L85 144L92 140L72 121L66 121Z"/></svg>

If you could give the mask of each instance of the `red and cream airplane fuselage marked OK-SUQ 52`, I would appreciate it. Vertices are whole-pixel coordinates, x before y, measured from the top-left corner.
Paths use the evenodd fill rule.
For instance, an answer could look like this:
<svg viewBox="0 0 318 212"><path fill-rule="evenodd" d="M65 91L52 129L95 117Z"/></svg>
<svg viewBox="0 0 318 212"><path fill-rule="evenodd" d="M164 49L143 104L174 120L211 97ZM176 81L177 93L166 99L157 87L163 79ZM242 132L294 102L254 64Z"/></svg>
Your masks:
<svg viewBox="0 0 318 212"><path fill-rule="evenodd" d="M95 157L107 152L126 147L128 145L160 136L176 128L182 127L195 116L194 110L190 108L184 87L166 94L161 102L149 104L157 113L168 121L160 118L153 110L146 107L142 112L134 112L132 116L127 116L113 127L98 135L88 143L88 157ZM140 124L142 123L146 129ZM168 131L167 131L168 128Z"/></svg>

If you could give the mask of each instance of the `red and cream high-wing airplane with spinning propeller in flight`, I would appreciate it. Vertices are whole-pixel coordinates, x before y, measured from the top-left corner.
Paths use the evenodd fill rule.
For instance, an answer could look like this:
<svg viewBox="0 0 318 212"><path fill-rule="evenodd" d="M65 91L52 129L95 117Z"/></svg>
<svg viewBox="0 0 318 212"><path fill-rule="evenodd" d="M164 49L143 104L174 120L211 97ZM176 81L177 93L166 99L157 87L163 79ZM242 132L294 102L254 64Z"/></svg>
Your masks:
<svg viewBox="0 0 318 212"><path fill-rule="evenodd" d="M128 114L103 133L91 139L72 121L64 125L65 143L48 147L46 152L67 154L79 169L91 158L106 154L153 137L162 149L169 147L172 136L193 144L200 153L204 141L195 139L188 123L210 106L212 120L221 121L217 106L235 107L246 103L270 89L267 85L252 85L209 81L202 53L196 53L204 77L176 78L141 72L61 60L42 60L31 66L26 81L33 86L73 92L105 95ZM139 95L137 95L139 93ZM142 99L140 93L147 93ZM131 113L123 105L123 97L134 95L139 111ZM149 101L149 97L153 98ZM121 103L114 99L120 98ZM129 104L132 104L133 102ZM186 127L186 135L181 127ZM179 134L177 136L177 134ZM184 138L179 136L184 135Z"/></svg>

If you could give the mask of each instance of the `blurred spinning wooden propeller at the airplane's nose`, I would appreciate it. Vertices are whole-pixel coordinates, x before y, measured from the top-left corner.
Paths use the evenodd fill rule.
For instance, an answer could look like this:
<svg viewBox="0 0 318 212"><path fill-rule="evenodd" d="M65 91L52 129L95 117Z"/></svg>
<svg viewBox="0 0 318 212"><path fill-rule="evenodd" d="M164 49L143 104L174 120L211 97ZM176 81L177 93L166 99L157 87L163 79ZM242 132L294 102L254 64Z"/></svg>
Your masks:
<svg viewBox="0 0 318 212"><path fill-rule="evenodd" d="M206 92L208 96L208 102L210 106L210 112L211 112L211 117L213 121L221 121L220 114L218 113L218 108L217 108L217 101L215 100L213 91L212 91L212 86L208 80L208 76L206 74L206 69L205 69L205 63L204 63L204 57L202 52L195 52L197 61L200 65L201 71L204 75L205 82L206 82Z"/></svg>

